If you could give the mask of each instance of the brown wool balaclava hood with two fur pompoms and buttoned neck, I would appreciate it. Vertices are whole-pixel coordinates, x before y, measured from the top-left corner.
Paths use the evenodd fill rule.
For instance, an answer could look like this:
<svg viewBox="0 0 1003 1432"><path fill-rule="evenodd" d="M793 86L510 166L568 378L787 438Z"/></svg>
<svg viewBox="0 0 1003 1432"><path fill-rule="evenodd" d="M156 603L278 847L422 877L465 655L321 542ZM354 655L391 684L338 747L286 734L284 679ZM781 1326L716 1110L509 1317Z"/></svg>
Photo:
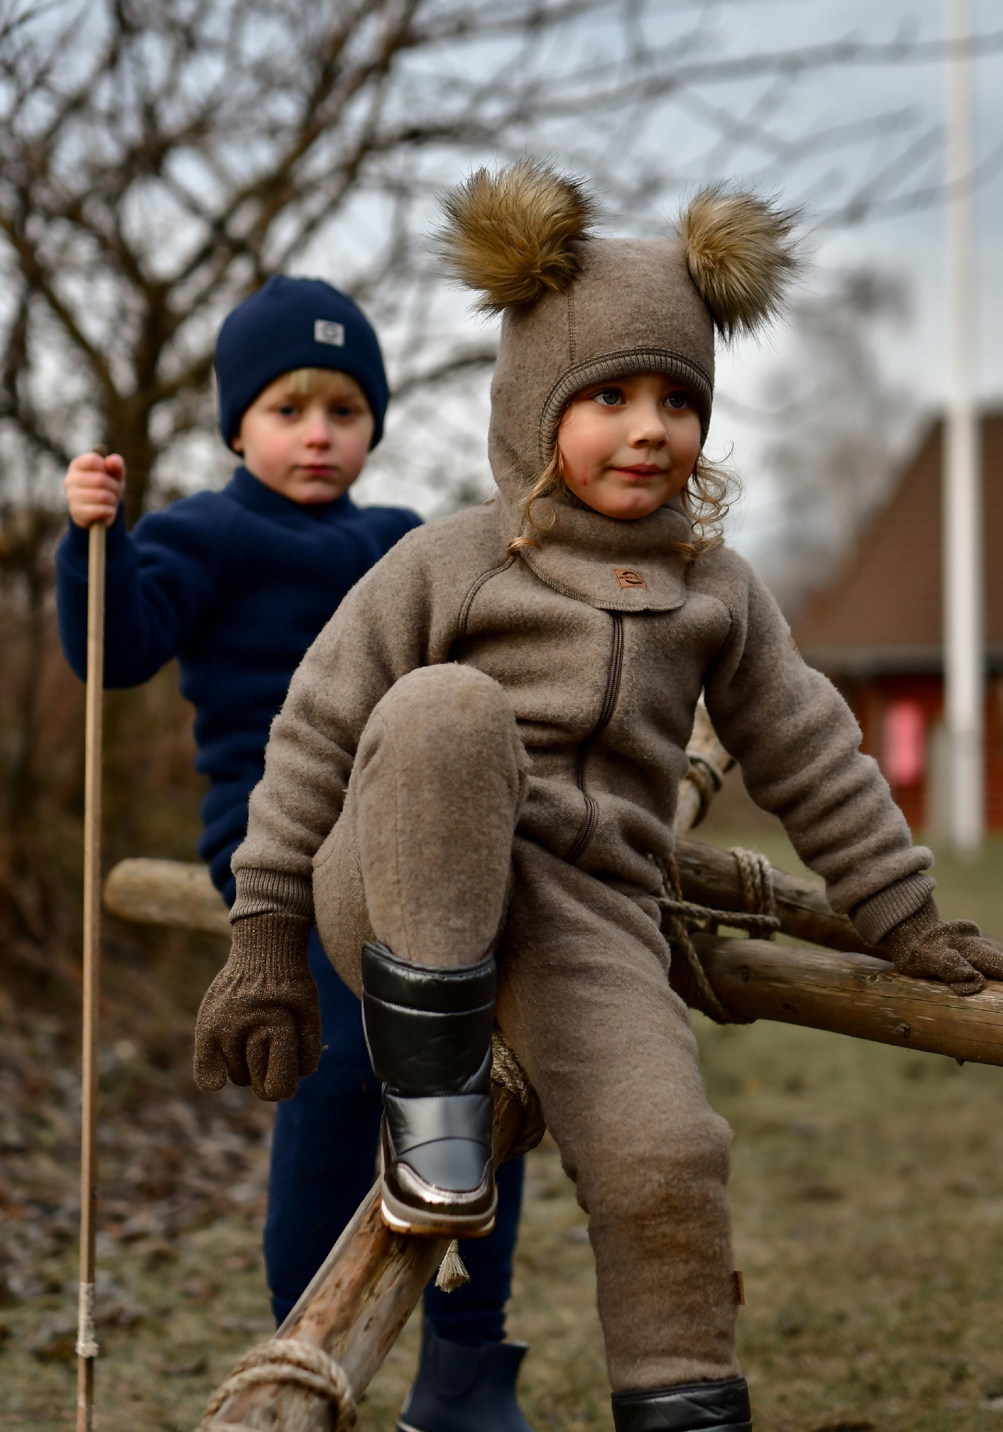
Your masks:
<svg viewBox="0 0 1003 1432"><path fill-rule="evenodd" d="M481 311L503 315L489 457L509 540L529 533L526 497L573 394L629 372L665 372L694 394L706 437L715 329L729 339L761 328L797 269L794 215L719 186L698 193L663 239L595 236L585 188L533 159L477 170L443 208L440 252L480 291ZM692 530L678 501L633 521L570 495L552 507L539 550L520 551L543 581L609 610L683 601L685 558L673 546ZM643 586L625 586L625 570Z"/></svg>

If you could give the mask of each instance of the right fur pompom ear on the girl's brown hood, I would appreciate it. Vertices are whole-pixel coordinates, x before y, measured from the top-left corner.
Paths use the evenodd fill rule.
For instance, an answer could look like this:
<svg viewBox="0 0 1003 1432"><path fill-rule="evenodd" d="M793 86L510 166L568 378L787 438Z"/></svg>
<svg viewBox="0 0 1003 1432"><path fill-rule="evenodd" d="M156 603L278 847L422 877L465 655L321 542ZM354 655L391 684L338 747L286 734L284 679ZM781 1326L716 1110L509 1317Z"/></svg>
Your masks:
<svg viewBox="0 0 1003 1432"><path fill-rule="evenodd" d="M704 189L679 216L689 276L725 339L751 334L782 306L801 268L792 239L795 209L752 193Z"/></svg>

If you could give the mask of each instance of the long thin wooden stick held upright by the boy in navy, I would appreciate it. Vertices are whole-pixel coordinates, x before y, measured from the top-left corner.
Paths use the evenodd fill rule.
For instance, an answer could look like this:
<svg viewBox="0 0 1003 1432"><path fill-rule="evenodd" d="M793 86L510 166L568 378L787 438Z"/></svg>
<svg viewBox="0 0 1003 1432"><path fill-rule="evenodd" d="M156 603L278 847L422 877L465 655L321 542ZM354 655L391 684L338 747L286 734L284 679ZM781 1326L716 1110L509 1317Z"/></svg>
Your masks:
<svg viewBox="0 0 1003 1432"><path fill-rule="evenodd" d="M105 523L87 548L87 697L83 776L83 1098L80 1110L80 1306L77 1432L95 1425L95 1234L97 1211L97 998L100 988L102 697L105 695Z"/></svg>

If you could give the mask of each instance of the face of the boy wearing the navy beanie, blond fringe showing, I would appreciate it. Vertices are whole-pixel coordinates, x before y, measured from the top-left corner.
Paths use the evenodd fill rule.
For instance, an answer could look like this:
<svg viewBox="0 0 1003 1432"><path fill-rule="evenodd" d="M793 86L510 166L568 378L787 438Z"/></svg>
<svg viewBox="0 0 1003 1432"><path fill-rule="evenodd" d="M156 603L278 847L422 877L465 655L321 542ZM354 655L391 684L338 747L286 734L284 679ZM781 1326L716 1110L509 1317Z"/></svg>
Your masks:
<svg viewBox="0 0 1003 1432"><path fill-rule="evenodd" d="M259 392L234 451L249 473L294 503L332 503L358 474L373 441L373 412L347 372L318 371L304 394L292 374Z"/></svg>

